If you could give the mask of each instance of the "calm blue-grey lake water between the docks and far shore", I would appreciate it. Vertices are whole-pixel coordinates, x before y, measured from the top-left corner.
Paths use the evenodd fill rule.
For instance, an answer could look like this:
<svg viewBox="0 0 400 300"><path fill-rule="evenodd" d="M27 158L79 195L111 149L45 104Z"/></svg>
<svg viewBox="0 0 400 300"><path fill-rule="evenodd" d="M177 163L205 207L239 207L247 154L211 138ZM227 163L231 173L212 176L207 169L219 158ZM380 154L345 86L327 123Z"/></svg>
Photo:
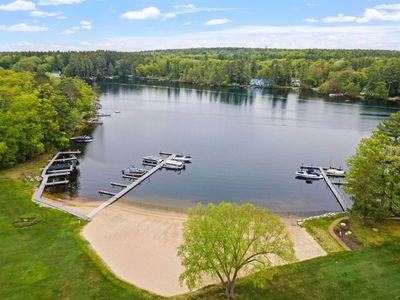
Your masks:
<svg viewBox="0 0 400 300"><path fill-rule="evenodd" d="M73 196L105 199L121 170L160 150L191 154L181 173L161 171L125 202L182 208L197 202L251 202L299 215L338 211L323 181L295 179L302 163L345 166L362 137L396 107L282 90L215 89L104 83L112 113L83 146ZM120 111L120 114L114 113Z"/></svg>

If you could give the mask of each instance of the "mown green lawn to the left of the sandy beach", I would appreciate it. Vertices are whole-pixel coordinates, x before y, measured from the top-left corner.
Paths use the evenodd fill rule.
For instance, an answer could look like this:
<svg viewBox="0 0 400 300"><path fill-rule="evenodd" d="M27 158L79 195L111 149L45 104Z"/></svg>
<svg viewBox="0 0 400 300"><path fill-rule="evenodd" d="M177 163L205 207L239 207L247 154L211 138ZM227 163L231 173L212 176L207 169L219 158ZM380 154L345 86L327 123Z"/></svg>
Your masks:
<svg viewBox="0 0 400 300"><path fill-rule="evenodd" d="M156 298L105 269L79 238L83 222L40 208L31 195L32 183L0 178L0 299ZM16 228L27 214L42 220Z"/></svg>

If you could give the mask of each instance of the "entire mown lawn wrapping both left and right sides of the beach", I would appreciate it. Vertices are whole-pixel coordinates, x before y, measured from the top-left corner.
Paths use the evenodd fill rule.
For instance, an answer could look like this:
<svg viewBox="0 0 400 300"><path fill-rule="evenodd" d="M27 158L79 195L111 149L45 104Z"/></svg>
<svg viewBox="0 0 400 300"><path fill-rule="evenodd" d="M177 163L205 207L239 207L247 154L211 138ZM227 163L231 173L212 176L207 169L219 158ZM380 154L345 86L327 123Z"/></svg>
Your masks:
<svg viewBox="0 0 400 300"><path fill-rule="evenodd" d="M0 299L160 298L118 280L80 238L83 222L40 208L31 195L31 182L0 175ZM33 224L27 227L15 223L29 217L39 222L27 222ZM390 228L398 232L398 226ZM238 299L399 299L399 249L400 240L392 238L386 244L279 267L265 289L241 279ZM177 298L224 296L213 286Z"/></svg>

